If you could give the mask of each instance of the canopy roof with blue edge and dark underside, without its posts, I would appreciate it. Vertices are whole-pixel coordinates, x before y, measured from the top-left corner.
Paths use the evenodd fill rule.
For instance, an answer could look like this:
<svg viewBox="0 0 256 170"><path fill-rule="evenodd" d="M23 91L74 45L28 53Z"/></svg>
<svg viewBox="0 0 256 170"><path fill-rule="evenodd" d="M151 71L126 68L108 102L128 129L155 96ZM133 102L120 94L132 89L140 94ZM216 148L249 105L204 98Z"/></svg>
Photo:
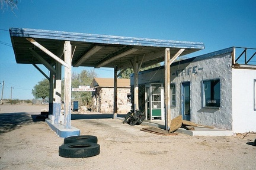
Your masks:
<svg viewBox="0 0 256 170"><path fill-rule="evenodd" d="M72 45L72 66L117 67L117 70L132 68L132 63L142 62L142 68L164 61L165 48L170 48L171 56L185 48L181 55L204 49L202 42L155 40L147 38L118 37L110 35L82 34L75 32L9 28L16 62L20 64L42 64L34 57L30 48L47 63L53 58L33 45L27 38L39 42L47 50L63 60L63 44ZM62 56L60 56L62 55Z"/></svg>

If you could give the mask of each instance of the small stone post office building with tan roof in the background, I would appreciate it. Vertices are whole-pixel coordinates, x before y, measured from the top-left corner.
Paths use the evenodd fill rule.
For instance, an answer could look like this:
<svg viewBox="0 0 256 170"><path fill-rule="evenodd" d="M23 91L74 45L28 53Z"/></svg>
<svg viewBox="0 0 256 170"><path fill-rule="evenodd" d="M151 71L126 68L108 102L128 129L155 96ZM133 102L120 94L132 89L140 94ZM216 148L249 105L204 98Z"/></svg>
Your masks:
<svg viewBox="0 0 256 170"><path fill-rule="evenodd" d="M114 79L94 78L91 87L92 111L113 113L114 111ZM117 113L127 113L131 110L130 79L117 79Z"/></svg>

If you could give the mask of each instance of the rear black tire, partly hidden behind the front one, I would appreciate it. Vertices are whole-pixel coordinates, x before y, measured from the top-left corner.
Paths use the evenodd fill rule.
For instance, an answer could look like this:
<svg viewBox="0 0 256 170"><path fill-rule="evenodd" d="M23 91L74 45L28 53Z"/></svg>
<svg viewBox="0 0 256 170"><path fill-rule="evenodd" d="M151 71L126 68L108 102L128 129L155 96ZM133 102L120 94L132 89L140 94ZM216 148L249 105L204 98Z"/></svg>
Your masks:
<svg viewBox="0 0 256 170"><path fill-rule="evenodd" d="M67 138L64 138L64 144L66 143L75 143L75 142L92 142L92 143L97 143L98 138L96 136L92 135L80 135L80 136L69 136Z"/></svg>

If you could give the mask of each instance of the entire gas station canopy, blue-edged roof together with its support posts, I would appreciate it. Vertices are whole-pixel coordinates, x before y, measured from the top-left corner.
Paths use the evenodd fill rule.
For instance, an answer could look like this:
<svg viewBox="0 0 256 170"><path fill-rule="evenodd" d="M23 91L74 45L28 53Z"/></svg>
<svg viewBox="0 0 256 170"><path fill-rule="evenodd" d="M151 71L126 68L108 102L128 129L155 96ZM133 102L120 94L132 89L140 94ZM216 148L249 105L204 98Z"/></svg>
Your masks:
<svg viewBox="0 0 256 170"><path fill-rule="evenodd" d="M75 32L10 28L12 47L18 64L43 64L50 70L49 116L51 125L60 125L61 65L65 66L65 129L71 128L71 70L73 67L114 68L114 119L117 117L117 71L133 68L133 107L139 109L138 73L143 67L164 61L165 64L165 125L171 126L169 95L170 66L181 55L204 48L202 42L155 40L82 34ZM53 75L55 74L55 79ZM55 86L53 86L55 84ZM55 90L53 90L55 88ZM54 100L53 100L54 99ZM53 102L54 101L54 102ZM55 108L55 109L53 109ZM68 131L67 131L68 133ZM72 134L72 135L78 135Z"/></svg>

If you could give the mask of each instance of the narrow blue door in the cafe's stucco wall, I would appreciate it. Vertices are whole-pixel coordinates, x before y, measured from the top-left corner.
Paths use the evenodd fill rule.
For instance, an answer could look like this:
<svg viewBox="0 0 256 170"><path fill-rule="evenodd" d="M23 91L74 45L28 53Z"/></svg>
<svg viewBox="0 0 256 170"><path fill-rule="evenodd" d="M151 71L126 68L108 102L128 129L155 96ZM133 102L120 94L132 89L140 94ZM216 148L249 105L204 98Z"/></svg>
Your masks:
<svg viewBox="0 0 256 170"><path fill-rule="evenodd" d="M190 82L181 83L181 114L190 121Z"/></svg>

